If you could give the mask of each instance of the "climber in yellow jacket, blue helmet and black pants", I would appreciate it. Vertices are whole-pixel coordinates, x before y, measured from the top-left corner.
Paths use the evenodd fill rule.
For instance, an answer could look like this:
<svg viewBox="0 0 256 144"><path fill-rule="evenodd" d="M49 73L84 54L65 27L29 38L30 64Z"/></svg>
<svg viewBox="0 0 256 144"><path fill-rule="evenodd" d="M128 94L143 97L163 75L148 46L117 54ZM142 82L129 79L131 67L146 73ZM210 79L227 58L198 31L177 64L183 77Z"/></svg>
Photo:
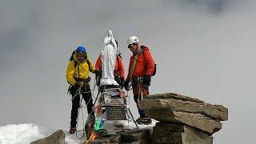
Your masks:
<svg viewBox="0 0 256 144"><path fill-rule="evenodd" d="M76 131L80 102L80 97L78 95L79 88L81 88L82 98L87 104L88 116L94 117L94 111L92 109L93 99L89 85L89 71L95 73L94 64L86 53L86 48L84 46L78 46L77 50L74 50L74 54L72 54L66 70L66 80L71 85L70 94L72 94L70 134L74 134Z"/></svg>

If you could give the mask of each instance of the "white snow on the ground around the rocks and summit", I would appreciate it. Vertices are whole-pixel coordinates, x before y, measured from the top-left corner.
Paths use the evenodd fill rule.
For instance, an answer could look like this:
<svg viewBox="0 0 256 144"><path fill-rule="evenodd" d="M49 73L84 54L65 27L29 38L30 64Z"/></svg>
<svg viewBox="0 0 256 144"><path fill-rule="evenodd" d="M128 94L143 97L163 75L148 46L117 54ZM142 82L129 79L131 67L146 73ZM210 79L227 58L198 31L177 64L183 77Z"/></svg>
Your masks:
<svg viewBox="0 0 256 144"><path fill-rule="evenodd" d="M153 121L150 125L138 125L140 129L152 128L156 121ZM106 130L115 128L115 125L122 125L126 128L135 128L134 122L128 121L105 121L104 127ZM0 144L29 144L39 138L46 138L50 134L53 134L54 129L46 128L43 126L36 126L35 124L18 124L18 125L6 125L0 127ZM85 141L82 138L82 130L78 130L78 134L69 134L68 131L64 131L67 144L80 144ZM81 140L78 138L82 138Z"/></svg>

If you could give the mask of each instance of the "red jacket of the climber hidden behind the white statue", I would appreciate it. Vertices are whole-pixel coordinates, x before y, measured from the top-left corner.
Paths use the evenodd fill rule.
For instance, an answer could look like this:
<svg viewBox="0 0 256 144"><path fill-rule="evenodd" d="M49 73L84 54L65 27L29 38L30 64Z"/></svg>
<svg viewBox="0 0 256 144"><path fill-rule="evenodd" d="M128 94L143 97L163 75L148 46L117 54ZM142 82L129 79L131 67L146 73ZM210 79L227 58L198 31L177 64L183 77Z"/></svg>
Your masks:
<svg viewBox="0 0 256 144"><path fill-rule="evenodd" d="M101 54L98 56L96 65L95 65L95 69L98 71L102 70L102 56ZM114 73L116 72L120 72L120 78L125 78L125 67L123 65L122 62L122 58L118 55L117 61L115 62L114 65ZM116 76L116 74L114 74L114 76Z"/></svg>

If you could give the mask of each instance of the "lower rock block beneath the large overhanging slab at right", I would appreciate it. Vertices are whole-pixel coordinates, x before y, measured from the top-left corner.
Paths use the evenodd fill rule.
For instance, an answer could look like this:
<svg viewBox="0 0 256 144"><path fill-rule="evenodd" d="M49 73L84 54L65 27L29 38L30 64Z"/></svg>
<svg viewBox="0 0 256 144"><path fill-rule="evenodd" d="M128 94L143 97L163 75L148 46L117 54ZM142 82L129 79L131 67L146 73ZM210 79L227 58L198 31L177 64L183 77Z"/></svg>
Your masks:
<svg viewBox="0 0 256 144"><path fill-rule="evenodd" d="M154 144L212 144L213 137L194 129L193 127L158 122L153 128Z"/></svg>

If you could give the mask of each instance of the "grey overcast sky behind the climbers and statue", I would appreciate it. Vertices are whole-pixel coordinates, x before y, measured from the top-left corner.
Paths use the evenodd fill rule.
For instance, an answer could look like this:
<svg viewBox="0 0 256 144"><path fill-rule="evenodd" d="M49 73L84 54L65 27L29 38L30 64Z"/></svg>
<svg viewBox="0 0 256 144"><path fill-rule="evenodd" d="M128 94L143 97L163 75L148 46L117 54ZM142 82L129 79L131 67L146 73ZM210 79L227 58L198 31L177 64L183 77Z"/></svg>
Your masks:
<svg viewBox="0 0 256 144"><path fill-rule="evenodd" d="M214 143L255 143L255 4L0 0L0 126L33 122L68 130L68 58L84 45L95 62L110 29L126 74L127 38L136 35L150 47L158 64L151 94L175 92L226 106L229 121L214 134Z"/></svg>

